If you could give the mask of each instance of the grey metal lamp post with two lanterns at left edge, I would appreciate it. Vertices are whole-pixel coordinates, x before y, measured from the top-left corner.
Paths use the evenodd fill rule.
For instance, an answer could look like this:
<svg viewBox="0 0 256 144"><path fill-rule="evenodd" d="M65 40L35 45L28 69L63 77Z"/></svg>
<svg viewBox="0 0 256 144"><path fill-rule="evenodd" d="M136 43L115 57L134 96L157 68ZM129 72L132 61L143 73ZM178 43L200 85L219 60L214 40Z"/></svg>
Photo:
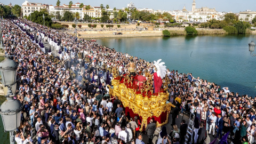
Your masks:
<svg viewBox="0 0 256 144"><path fill-rule="evenodd" d="M23 105L19 100L13 99L12 88L16 87L16 74L18 64L11 59L10 55L5 56L5 60L0 63L0 75L2 84L8 87L5 95L6 101L1 105L0 114L2 116L4 130L10 131L10 143L14 144L14 131L20 126L21 110Z"/></svg>

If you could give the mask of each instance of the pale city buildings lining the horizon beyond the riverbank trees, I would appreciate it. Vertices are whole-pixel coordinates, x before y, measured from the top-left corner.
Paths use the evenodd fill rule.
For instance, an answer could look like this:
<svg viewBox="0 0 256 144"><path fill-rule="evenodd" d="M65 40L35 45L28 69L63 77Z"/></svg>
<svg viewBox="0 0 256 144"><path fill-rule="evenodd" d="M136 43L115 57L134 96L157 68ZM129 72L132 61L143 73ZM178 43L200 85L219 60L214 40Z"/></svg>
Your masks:
<svg viewBox="0 0 256 144"><path fill-rule="evenodd" d="M11 4L11 3L10 3ZM10 5L9 4L9 5ZM0 3L0 5L3 5ZM34 2L28 2L25 1L22 3L21 8L22 8L22 16L29 16L30 13L33 13L34 11L39 11L41 9L46 9L49 14L55 15L57 12L60 13L60 15L63 15L65 11L70 11L73 13L80 13L81 14L81 19L84 18L84 15L87 14L91 18L101 18L102 16L102 7L101 6L87 6L83 5L81 7L81 3L75 3L72 4L71 7L69 4L62 4L62 5L48 5L48 4L43 4L43 3L34 3ZM108 9L107 9L108 8ZM190 8L190 7L189 7ZM119 10L125 11L126 9L133 10L136 9L137 11L147 11L152 14L157 14L157 13L169 13L172 17L173 20L176 22L206 22L211 19L216 19L216 20L222 20L224 18L224 15L229 13L229 12L217 12L215 8L209 8L209 7L201 7L198 8L196 7L196 1L193 0L191 3L191 11L188 11L186 6L183 6L182 10L172 10L172 11L165 11L165 10L154 10L154 9L148 9L148 8L137 8L134 3L129 3L127 4L127 7L123 7L122 9L120 8L109 8L109 7L104 7L105 10L107 10L109 14L109 19L113 20L114 19L114 12L118 12ZM251 11L251 10L246 10L243 12L236 13L238 15L238 19L241 21L251 21L255 16L256 16L256 11ZM127 13L127 17L131 17L131 13ZM53 19L58 19L58 18L53 18ZM158 21L163 21L163 19L157 19Z"/></svg>

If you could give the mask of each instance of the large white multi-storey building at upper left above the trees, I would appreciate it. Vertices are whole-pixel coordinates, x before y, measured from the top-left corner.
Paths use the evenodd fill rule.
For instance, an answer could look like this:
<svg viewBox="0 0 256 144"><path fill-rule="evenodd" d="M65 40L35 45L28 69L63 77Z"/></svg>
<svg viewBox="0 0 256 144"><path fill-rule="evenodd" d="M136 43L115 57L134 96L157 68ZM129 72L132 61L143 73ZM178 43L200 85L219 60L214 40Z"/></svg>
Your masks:
<svg viewBox="0 0 256 144"><path fill-rule="evenodd" d="M28 16L30 13L33 13L34 11L40 11L41 9L49 9L49 5L42 4L42 3L30 3L28 1L25 1L21 5L23 17L26 15Z"/></svg>

